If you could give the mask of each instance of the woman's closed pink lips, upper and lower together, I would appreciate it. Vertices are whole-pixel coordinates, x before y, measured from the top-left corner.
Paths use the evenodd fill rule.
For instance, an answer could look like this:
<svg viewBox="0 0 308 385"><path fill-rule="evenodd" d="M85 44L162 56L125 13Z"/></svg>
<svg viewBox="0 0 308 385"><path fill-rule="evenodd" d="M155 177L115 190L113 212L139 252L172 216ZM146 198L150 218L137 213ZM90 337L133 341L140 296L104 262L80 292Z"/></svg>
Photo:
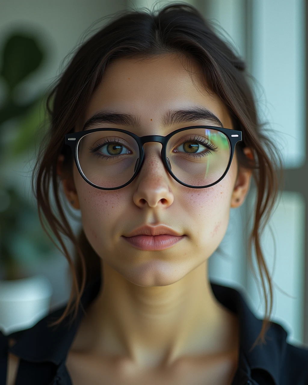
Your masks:
<svg viewBox="0 0 308 385"><path fill-rule="evenodd" d="M167 226L142 226L123 238L140 250L159 251L172 247L181 241L181 235Z"/></svg>

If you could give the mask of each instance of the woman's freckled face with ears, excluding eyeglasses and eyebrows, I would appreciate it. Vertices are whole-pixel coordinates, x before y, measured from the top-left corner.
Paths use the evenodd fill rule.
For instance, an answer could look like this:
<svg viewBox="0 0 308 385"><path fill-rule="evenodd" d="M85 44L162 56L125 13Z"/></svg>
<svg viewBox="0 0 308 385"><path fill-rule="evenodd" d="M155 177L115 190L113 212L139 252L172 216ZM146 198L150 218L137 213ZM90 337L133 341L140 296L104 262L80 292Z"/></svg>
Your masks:
<svg viewBox="0 0 308 385"><path fill-rule="evenodd" d="M233 128L225 105L204 90L197 70L192 79L175 55L116 60L107 68L76 131L101 110L134 115L139 126L104 122L89 129L114 127L138 136L166 136L187 126L218 126L211 119L165 124L169 110L196 107L208 109L223 127ZM186 276L215 251L226 232L230 207L242 203L249 177L244 171L238 175L233 157L222 181L212 187L192 189L168 174L161 159L161 144L147 143L144 150L143 167L126 187L114 191L92 187L74 164L74 189L69 191L65 183L64 188L68 198L75 201L74 206L80 208L84 232L104 263L136 285L163 286ZM171 236L156 237L153 246L147 239L157 234L160 226L165 226L167 230L163 230ZM143 231L143 238L129 238L136 229Z"/></svg>

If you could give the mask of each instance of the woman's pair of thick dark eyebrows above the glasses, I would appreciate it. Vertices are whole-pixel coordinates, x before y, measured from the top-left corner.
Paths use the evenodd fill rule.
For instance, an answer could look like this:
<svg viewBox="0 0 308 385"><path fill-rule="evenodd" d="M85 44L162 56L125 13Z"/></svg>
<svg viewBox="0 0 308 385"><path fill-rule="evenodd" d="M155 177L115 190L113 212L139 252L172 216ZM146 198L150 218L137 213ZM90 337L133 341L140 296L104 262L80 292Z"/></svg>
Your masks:
<svg viewBox="0 0 308 385"><path fill-rule="evenodd" d="M223 124L213 112L205 107L191 107L182 110L167 110L162 117L162 124L164 126L173 126L186 122L193 122L196 120L205 119L212 124L218 124L223 128ZM84 124L82 131L94 126L98 123L112 123L121 124L122 126L130 126L132 128L140 128L140 117L132 114L121 114L116 111L100 110L95 112Z"/></svg>

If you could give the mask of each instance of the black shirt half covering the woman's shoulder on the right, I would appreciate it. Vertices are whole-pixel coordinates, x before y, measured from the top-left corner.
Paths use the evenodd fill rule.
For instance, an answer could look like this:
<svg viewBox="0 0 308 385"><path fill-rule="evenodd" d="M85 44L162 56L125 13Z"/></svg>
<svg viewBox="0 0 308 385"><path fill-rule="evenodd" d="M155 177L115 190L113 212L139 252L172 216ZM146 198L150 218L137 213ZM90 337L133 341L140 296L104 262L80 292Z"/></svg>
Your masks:
<svg viewBox="0 0 308 385"><path fill-rule="evenodd" d="M241 353L247 362L242 369L253 375L263 373L263 382L257 383L264 383L265 373L276 385L308 385L308 349L288 343L287 331L275 322L266 331L265 343L255 345L263 320L251 311L245 292L212 282L211 285L216 299L238 316Z"/></svg>

